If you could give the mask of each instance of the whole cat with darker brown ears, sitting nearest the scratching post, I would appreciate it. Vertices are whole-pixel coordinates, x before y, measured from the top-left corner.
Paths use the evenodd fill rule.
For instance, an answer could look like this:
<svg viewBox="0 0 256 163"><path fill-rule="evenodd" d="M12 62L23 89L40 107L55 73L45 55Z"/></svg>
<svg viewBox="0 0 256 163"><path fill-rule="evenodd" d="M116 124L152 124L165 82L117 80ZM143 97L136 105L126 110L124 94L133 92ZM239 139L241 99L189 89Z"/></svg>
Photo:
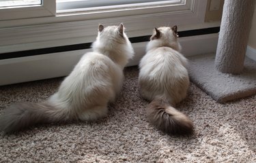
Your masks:
<svg viewBox="0 0 256 163"><path fill-rule="evenodd" d="M186 98L189 86L187 59L180 50L177 26L154 29L139 64L139 92L152 101L146 108L147 117L156 128L169 134L193 132L193 122L174 108Z"/></svg>

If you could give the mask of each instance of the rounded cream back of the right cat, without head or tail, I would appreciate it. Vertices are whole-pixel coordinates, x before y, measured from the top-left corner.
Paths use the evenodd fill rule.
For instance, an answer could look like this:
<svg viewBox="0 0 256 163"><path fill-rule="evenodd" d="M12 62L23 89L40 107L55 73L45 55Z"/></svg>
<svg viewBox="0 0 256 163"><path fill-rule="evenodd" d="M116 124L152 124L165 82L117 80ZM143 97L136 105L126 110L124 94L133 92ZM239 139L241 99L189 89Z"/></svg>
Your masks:
<svg viewBox="0 0 256 163"><path fill-rule="evenodd" d="M147 52L140 62L141 95L150 101L164 94L171 103L181 101L189 85L185 62L186 58L171 48L161 47Z"/></svg>

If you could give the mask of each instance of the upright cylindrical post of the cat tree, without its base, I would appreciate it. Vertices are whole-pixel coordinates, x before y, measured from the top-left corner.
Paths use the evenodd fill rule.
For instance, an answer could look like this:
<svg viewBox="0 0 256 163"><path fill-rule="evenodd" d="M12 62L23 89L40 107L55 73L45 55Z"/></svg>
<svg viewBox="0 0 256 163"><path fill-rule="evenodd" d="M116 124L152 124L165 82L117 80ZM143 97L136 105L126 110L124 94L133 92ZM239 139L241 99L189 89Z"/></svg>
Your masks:
<svg viewBox="0 0 256 163"><path fill-rule="evenodd" d="M244 68L254 5L255 0L225 0L214 61L221 73L238 74Z"/></svg>

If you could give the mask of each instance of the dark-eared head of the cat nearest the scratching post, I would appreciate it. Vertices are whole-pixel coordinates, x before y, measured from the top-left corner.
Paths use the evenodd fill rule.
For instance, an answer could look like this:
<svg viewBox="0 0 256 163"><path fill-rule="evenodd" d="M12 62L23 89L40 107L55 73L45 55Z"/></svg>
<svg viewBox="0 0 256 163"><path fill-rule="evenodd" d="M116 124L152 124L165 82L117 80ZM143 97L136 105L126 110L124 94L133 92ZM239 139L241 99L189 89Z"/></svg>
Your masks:
<svg viewBox="0 0 256 163"><path fill-rule="evenodd" d="M155 28L153 35L150 37L150 43L148 43L147 50L167 46L180 52L181 46L177 41L177 37L179 37L177 35L177 26L173 26L172 28L169 26Z"/></svg>

